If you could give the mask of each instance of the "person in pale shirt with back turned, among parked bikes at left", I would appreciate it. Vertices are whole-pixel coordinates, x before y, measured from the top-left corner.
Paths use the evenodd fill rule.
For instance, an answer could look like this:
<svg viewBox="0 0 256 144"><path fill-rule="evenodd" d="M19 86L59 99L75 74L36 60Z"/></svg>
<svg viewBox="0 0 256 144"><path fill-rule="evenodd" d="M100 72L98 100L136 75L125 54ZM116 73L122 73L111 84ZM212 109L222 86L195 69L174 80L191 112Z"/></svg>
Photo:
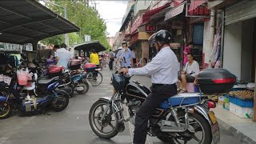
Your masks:
<svg viewBox="0 0 256 144"><path fill-rule="evenodd" d="M68 63L70 58L73 58L73 54L69 50L66 50L66 44L62 44L61 48L56 50L56 62L58 66L64 66L65 69L68 68Z"/></svg>

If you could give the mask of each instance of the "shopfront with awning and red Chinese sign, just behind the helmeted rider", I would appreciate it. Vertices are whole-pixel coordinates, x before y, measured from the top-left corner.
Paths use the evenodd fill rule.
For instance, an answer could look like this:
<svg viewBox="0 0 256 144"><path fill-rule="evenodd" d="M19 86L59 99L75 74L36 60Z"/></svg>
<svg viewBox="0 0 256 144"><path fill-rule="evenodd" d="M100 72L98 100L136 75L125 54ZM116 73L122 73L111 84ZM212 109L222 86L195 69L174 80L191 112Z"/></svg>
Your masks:
<svg viewBox="0 0 256 144"><path fill-rule="evenodd" d="M197 1L194 1L197 2ZM183 63L183 50L188 42L194 42L191 54L194 59L203 65L203 42L204 42L204 23L210 16L210 10L205 6L205 1L200 3L182 2L166 13L165 21L171 26L173 42L171 44L178 61ZM178 47L180 46L180 47Z"/></svg>

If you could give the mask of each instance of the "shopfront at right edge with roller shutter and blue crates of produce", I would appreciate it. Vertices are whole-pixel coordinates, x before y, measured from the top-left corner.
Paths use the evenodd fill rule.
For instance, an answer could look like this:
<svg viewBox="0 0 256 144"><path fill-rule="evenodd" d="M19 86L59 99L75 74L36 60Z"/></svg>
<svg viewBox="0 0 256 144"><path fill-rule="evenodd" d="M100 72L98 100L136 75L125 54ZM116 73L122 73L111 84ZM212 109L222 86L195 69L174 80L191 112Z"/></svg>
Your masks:
<svg viewBox="0 0 256 144"><path fill-rule="evenodd" d="M256 1L244 0L227 6L210 4L214 9L224 10L222 67L239 81L228 94L230 112L256 121Z"/></svg>

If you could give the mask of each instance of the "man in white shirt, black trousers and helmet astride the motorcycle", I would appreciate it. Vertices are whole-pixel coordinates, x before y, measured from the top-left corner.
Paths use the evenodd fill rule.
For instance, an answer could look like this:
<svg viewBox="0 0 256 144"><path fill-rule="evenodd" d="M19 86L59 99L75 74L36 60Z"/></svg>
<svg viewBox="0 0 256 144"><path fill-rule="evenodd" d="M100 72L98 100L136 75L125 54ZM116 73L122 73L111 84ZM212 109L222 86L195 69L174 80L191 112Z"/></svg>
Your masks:
<svg viewBox="0 0 256 144"><path fill-rule="evenodd" d="M158 54L142 68L122 68L119 72L130 75L151 75L151 93L139 107L135 118L134 144L146 142L148 119L154 110L167 98L177 94L175 82L178 80L179 64L174 51L170 49L171 34L167 30L160 30L153 34L149 41L158 46Z"/></svg>

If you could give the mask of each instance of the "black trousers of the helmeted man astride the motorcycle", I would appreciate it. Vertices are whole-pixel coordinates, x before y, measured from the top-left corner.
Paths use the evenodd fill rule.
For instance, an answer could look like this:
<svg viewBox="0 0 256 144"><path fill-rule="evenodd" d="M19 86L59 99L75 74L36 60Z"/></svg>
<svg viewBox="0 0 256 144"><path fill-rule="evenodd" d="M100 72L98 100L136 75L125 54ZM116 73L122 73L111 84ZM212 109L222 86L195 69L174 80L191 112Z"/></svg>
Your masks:
<svg viewBox="0 0 256 144"><path fill-rule="evenodd" d="M146 130L148 119L154 114L154 110L160 106L167 98L177 94L177 86L173 85L152 85L152 92L145 102L138 109L135 118L134 144L144 144L146 142Z"/></svg>

